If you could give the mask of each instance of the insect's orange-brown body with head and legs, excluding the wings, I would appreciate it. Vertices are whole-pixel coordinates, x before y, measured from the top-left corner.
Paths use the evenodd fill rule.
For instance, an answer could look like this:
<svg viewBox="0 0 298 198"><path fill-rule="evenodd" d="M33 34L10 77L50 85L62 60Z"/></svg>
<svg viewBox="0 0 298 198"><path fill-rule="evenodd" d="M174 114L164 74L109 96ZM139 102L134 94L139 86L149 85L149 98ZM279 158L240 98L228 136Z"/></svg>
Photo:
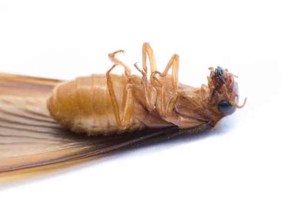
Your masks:
<svg viewBox="0 0 298 198"><path fill-rule="evenodd" d="M177 54L159 72L149 43L144 43L143 70L134 64L142 74L137 76L131 75L130 68L115 58L119 52L124 51L109 54L115 64L106 75L78 77L57 86L48 100L52 117L72 131L89 135L173 125L204 130L245 105L246 99L238 105L236 76L227 69L209 68L208 86L194 88L178 85ZM124 67L124 75L110 73L117 65ZM172 75L168 75L170 68Z"/></svg>

